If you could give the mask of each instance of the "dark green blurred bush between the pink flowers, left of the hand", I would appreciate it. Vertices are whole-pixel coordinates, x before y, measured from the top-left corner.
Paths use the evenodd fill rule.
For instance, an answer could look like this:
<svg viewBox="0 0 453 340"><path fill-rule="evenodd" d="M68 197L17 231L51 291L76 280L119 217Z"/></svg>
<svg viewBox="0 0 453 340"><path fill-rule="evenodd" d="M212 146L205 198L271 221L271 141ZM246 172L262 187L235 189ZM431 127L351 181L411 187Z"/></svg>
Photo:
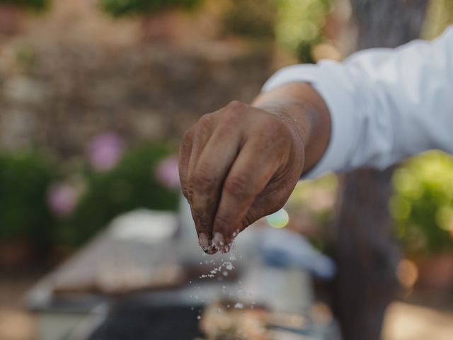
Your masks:
<svg viewBox="0 0 453 340"><path fill-rule="evenodd" d="M159 161L174 152L166 145L143 145L127 152L111 171L88 170L86 191L59 227L59 242L78 246L117 215L136 208L176 210L178 191L164 187L154 176Z"/></svg>

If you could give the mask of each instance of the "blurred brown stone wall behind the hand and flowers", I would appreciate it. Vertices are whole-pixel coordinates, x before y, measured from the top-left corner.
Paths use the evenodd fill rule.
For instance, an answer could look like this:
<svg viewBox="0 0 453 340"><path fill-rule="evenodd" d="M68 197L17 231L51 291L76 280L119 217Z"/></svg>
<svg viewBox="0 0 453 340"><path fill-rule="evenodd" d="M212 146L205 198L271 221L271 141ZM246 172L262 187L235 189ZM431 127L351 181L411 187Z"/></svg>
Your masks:
<svg viewBox="0 0 453 340"><path fill-rule="evenodd" d="M66 157L105 130L132 143L178 140L203 113L251 101L271 73L269 45L144 42L137 20L96 11L57 0L0 40L1 148L38 145Z"/></svg>

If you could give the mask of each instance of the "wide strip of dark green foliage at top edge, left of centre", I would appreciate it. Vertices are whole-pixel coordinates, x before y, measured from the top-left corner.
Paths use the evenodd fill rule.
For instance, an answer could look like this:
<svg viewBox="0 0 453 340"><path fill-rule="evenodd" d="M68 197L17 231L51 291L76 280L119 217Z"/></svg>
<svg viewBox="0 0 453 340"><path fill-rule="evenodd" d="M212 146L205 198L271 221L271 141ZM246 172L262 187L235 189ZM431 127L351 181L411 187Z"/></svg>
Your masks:
<svg viewBox="0 0 453 340"><path fill-rule="evenodd" d="M168 8L191 9L201 0L99 0L101 8L112 16L149 15Z"/></svg>

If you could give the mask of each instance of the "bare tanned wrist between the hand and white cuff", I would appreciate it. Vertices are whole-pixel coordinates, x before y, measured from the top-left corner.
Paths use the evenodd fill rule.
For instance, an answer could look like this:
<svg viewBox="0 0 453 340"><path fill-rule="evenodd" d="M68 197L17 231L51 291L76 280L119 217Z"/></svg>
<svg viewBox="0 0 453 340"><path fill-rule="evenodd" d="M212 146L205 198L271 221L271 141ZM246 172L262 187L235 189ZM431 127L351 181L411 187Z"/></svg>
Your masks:
<svg viewBox="0 0 453 340"><path fill-rule="evenodd" d="M291 83L260 94L253 106L292 120L302 138L304 171L319 162L331 139L331 117L318 92L306 83Z"/></svg>

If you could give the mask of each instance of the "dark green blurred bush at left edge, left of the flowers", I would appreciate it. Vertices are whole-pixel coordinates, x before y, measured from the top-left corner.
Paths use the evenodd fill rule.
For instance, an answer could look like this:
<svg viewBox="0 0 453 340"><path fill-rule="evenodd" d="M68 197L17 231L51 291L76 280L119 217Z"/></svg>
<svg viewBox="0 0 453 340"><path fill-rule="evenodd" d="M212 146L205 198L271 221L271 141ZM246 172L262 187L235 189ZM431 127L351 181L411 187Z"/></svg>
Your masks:
<svg viewBox="0 0 453 340"><path fill-rule="evenodd" d="M0 239L47 242L55 219L46 193L57 176L55 162L42 152L0 154Z"/></svg>

